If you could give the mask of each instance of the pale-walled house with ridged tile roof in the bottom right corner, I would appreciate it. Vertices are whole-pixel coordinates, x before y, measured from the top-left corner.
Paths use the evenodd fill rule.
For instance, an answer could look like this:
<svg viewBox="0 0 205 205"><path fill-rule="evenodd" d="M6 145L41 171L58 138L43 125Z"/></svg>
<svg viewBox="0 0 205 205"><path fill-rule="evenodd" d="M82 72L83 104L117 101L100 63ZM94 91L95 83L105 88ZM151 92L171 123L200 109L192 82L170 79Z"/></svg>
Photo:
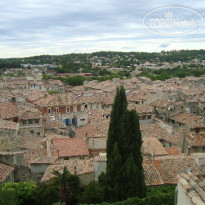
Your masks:
<svg viewBox="0 0 205 205"><path fill-rule="evenodd" d="M194 174L191 169L178 176L179 181L175 193L176 205L205 204L204 175Z"/></svg>

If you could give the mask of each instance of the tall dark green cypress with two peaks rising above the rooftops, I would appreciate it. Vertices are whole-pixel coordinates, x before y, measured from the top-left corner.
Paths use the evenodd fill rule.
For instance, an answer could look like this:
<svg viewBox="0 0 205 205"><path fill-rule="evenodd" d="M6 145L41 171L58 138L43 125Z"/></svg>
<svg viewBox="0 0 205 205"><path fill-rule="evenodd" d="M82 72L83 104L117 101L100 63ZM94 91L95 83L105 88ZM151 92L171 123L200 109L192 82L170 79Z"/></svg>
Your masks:
<svg viewBox="0 0 205 205"><path fill-rule="evenodd" d="M123 86L117 89L107 139L105 194L108 201L144 197L142 137L135 110L127 110Z"/></svg>

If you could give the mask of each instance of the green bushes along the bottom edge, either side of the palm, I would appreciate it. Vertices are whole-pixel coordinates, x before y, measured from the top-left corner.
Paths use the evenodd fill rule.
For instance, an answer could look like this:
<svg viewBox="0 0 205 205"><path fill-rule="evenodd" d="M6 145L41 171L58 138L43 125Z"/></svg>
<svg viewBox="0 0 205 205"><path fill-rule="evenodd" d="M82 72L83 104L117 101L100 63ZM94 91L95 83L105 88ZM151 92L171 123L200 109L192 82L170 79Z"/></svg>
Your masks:
<svg viewBox="0 0 205 205"><path fill-rule="evenodd" d="M74 180L75 181L75 180ZM75 187L75 186L74 186ZM72 188L73 189L73 188ZM75 189L75 188L74 188ZM102 187L91 183L82 192L81 204L98 205L173 205L175 186L159 186L146 189L146 198L132 197L124 201L106 203ZM80 191L78 190L77 196ZM3 205L65 205L60 202L59 189L53 182L36 186L33 183L6 183L0 187L0 204ZM71 204L79 204L73 201Z"/></svg>

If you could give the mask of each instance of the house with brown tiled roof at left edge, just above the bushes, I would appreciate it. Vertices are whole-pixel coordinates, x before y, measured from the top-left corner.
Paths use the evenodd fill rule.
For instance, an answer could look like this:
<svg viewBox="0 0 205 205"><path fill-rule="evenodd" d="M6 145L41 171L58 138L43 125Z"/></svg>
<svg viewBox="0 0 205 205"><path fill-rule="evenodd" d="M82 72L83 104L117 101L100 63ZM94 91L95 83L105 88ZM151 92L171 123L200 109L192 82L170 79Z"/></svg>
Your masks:
<svg viewBox="0 0 205 205"><path fill-rule="evenodd" d="M14 182L14 170L14 166L0 162L0 184Z"/></svg>

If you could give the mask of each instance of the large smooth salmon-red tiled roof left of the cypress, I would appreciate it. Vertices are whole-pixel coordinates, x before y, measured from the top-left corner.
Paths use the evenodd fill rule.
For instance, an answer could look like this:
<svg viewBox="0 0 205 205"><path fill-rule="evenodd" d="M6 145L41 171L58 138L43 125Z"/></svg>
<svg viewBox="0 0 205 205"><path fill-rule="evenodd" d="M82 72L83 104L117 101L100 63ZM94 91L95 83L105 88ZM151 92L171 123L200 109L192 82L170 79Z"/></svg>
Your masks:
<svg viewBox="0 0 205 205"><path fill-rule="evenodd" d="M74 157L89 155L87 143L84 138L54 138L53 156Z"/></svg>

